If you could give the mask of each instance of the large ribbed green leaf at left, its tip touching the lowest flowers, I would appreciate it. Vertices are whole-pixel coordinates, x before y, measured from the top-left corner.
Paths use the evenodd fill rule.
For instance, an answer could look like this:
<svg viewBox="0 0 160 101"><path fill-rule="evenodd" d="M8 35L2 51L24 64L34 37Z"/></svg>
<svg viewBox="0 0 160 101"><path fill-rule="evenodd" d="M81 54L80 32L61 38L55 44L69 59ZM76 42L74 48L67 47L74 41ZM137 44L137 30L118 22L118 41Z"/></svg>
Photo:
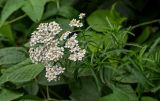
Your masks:
<svg viewBox="0 0 160 101"><path fill-rule="evenodd" d="M0 84L10 81L13 83L24 83L34 79L43 69L41 64L31 64L22 67L9 68L0 77ZM11 72L12 71L12 72ZM1 79L2 78L2 79Z"/></svg>

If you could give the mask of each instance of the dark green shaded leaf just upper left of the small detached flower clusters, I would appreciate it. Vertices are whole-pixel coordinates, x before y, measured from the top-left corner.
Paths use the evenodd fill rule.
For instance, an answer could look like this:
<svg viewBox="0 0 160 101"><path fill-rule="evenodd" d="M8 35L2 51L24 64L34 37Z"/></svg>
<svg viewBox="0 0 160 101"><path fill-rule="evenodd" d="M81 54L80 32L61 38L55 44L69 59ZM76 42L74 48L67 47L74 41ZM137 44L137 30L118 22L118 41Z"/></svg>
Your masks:
<svg viewBox="0 0 160 101"><path fill-rule="evenodd" d="M59 9L58 15L63 16L65 18L73 18L78 15L78 11L71 6L62 6Z"/></svg>

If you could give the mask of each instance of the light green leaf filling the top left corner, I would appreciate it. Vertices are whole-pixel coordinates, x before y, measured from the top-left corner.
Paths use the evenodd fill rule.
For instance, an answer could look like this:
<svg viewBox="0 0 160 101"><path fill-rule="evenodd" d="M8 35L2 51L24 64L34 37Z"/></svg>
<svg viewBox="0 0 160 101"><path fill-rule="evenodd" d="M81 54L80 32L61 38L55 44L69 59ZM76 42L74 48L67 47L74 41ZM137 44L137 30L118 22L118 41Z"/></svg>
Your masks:
<svg viewBox="0 0 160 101"><path fill-rule="evenodd" d="M1 13L1 25L13 12L21 8L23 4L24 0L7 0Z"/></svg>

